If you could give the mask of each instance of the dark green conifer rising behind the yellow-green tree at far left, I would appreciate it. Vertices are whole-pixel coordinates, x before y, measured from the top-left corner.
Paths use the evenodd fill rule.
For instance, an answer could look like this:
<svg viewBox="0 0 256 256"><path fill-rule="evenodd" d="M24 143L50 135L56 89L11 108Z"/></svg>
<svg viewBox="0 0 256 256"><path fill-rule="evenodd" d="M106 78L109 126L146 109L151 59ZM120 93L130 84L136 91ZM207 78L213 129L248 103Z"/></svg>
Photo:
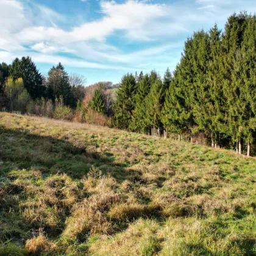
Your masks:
<svg viewBox="0 0 256 256"><path fill-rule="evenodd" d="M22 57L21 60L16 58L13 60L9 69L9 76L12 76L13 80L21 77L24 87L32 99L44 96L46 88L43 86L43 77L30 57Z"/></svg>

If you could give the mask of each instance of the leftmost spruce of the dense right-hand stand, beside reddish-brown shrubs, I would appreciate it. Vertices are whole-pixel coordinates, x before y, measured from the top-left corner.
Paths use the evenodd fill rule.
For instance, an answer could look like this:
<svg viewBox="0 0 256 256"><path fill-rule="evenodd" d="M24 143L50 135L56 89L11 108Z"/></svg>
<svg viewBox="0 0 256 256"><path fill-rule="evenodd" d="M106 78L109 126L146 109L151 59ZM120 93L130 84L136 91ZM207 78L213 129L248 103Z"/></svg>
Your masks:
<svg viewBox="0 0 256 256"><path fill-rule="evenodd" d="M137 85L132 74L126 74L121 80L121 87L117 91L113 112L115 123L119 129L127 129L132 119L132 111L135 108L135 94Z"/></svg>

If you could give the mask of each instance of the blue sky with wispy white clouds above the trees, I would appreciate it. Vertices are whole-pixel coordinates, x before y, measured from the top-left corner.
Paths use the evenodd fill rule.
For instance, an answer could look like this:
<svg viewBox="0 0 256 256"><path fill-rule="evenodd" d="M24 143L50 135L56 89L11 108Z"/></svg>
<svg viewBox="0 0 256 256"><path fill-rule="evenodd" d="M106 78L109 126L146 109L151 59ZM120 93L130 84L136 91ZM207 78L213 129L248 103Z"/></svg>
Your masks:
<svg viewBox="0 0 256 256"><path fill-rule="evenodd" d="M0 62L30 56L41 74L61 62L87 85L180 60L194 31L223 29L255 0L0 0Z"/></svg>

